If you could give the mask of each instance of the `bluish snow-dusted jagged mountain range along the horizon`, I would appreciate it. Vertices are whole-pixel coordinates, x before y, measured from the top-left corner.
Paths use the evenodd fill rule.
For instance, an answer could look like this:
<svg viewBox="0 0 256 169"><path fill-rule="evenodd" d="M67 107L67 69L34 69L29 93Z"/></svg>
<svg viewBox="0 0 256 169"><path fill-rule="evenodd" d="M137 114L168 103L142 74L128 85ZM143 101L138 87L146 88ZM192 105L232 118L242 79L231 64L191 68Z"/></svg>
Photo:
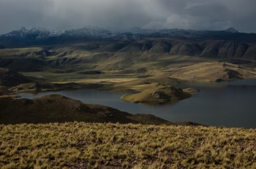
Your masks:
<svg viewBox="0 0 256 169"><path fill-rule="evenodd" d="M134 42L144 38L176 38L176 39L222 39L255 43L256 34L240 33L235 28L223 31L195 31L187 29L151 30L143 28L130 28L119 31L109 31L105 28L87 26L68 31L56 31L42 28L20 28L0 35L0 48L20 47L31 45L52 45L71 43L74 41L130 41Z"/></svg>

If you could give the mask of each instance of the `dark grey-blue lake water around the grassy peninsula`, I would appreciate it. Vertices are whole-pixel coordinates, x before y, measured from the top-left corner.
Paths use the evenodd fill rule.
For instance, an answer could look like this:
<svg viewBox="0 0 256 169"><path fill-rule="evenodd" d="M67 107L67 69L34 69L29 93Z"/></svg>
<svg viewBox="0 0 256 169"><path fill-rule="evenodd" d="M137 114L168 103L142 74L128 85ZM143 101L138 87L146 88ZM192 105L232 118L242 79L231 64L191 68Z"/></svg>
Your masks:
<svg viewBox="0 0 256 169"><path fill-rule="evenodd" d="M110 106L132 114L154 114L170 122L197 122L204 125L256 128L256 79L232 82L184 83L179 87L200 89L191 98L163 105L144 105L121 101L125 93L102 90L62 90L20 93L22 98L59 94L83 103Z"/></svg>

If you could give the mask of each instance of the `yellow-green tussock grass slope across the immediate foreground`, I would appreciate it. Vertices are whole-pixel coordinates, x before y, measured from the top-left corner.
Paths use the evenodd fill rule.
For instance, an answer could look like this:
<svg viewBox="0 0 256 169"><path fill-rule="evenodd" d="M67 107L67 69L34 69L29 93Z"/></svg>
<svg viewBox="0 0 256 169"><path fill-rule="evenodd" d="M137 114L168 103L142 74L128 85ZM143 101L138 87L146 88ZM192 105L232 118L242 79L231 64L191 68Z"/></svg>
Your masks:
<svg viewBox="0 0 256 169"><path fill-rule="evenodd" d="M256 168L252 129L73 122L0 135L0 168Z"/></svg>

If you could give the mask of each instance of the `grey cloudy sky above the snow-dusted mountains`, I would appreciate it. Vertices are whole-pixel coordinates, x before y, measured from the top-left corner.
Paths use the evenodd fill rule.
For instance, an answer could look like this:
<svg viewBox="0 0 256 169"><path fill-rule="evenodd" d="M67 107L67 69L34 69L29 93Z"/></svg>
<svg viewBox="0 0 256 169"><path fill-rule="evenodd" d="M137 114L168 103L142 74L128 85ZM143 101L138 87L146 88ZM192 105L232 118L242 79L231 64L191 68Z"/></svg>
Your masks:
<svg viewBox="0 0 256 169"><path fill-rule="evenodd" d="M0 34L21 27L67 30L184 28L256 33L256 0L0 0Z"/></svg>

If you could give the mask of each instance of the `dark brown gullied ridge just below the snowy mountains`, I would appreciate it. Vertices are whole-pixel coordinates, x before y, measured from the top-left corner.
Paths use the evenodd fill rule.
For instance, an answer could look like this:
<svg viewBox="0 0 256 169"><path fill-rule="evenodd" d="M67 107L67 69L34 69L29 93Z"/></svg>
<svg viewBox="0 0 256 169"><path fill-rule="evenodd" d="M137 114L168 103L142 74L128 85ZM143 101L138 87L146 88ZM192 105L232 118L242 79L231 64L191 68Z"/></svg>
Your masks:
<svg viewBox="0 0 256 169"><path fill-rule="evenodd" d="M255 38L256 39L256 38ZM106 42L83 40L69 42L69 44L51 44L47 47L38 45L29 50L29 47L8 48L0 50L0 56L53 56L62 52L62 56L74 54L77 51L87 52L117 52L117 53L143 53L148 55L170 54L170 55L189 55L200 56L203 58L217 59L238 59L255 61L256 42L233 41L225 39L181 39L178 37L170 38L144 38L135 41L115 40ZM9 50L12 49L12 50ZM20 53L26 50L26 52ZM28 51L29 50L29 51ZM76 51L75 51L76 50ZM22 59L22 58L20 58ZM37 61L37 62L36 62ZM38 60L30 60L39 64ZM15 64L15 63L12 63Z"/></svg>

